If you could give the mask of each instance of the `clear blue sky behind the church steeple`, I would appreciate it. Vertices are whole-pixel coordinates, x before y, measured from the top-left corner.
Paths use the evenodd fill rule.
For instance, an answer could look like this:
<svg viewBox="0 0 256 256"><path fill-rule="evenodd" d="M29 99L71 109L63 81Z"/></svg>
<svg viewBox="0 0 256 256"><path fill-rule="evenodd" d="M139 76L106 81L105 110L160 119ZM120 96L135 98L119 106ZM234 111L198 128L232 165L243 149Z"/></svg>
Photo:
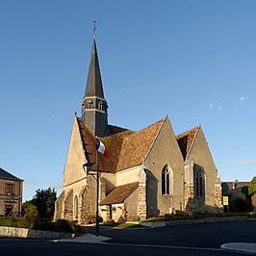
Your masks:
<svg viewBox="0 0 256 256"><path fill-rule="evenodd" d="M0 166L61 192L92 20L109 122L201 124L221 180L256 175L256 1L0 0Z"/></svg>

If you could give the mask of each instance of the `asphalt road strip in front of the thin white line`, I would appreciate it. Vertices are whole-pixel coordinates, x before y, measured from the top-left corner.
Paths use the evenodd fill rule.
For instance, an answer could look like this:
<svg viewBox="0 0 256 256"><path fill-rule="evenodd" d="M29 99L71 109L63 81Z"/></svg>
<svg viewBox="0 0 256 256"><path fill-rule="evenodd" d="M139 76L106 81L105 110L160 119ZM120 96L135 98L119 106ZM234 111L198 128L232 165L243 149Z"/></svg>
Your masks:
<svg viewBox="0 0 256 256"><path fill-rule="evenodd" d="M124 245L124 244L98 244L98 243L53 243L29 240L0 240L1 255L12 256L69 256L69 255L99 255L99 256L128 256L128 255L197 255L197 256L230 256L230 252L224 252L219 249L194 249L185 247L171 246L141 246L141 245Z"/></svg>

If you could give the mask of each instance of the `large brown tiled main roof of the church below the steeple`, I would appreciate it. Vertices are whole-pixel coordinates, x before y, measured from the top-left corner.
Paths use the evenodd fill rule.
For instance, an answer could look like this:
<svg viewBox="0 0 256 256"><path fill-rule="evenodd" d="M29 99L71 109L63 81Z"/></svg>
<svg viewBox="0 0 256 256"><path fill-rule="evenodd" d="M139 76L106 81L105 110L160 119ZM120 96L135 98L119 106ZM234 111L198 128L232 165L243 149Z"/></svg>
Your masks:
<svg viewBox="0 0 256 256"><path fill-rule="evenodd" d="M95 138L87 129L84 118L77 117L77 121L86 157L90 163L94 164L91 169L95 170ZM145 157L155 140L163 121L164 119L157 121L139 132L109 125L108 134L110 135L106 138L99 138L109 151L108 159L98 154L99 171L115 173L124 168L141 165L142 158Z"/></svg>

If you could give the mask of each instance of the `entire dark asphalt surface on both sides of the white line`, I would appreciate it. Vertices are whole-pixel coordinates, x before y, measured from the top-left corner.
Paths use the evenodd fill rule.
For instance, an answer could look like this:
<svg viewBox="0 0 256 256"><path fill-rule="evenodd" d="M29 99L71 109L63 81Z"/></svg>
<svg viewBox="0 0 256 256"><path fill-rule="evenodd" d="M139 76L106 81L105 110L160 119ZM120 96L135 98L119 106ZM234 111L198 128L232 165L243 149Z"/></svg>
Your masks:
<svg viewBox="0 0 256 256"><path fill-rule="evenodd" d="M0 239L1 255L239 255L219 249L222 243L256 243L256 219L190 224L157 229L107 229L104 244ZM93 232L93 228L90 228Z"/></svg>

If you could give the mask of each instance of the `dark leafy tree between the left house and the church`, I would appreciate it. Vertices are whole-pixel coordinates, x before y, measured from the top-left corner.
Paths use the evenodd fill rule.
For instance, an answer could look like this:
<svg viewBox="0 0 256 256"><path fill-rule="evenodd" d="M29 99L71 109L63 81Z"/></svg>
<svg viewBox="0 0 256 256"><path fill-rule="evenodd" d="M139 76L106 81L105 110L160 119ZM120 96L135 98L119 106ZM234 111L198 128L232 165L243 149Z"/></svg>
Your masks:
<svg viewBox="0 0 256 256"><path fill-rule="evenodd" d="M53 218L54 206L57 199L57 192L48 188L47 190L37 190L36 195L31 200L37 207L39 218Z"/></svg>

